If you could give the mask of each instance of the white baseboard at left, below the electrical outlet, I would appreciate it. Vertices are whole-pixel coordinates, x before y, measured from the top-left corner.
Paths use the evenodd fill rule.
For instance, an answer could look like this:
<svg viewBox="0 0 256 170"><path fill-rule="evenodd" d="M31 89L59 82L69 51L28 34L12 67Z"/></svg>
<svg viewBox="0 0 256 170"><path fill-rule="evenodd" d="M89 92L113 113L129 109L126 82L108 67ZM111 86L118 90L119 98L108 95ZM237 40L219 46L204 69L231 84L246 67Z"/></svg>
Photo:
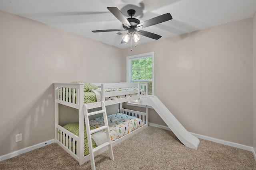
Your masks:
<svg viewBox="0 0 256 170"><path fill-rule="evenodd" d="M43 142L43 143L39 143L39 144L33 145L31 147L27 147L27 148L23 148L23 149L20 149L20 150L16 150L14 152L11 152L11 153L8 153L8 154L0 156L0 161L12 158L14 156L18 156L20 154L29 152L29 151L34 150L34 149L38 149L38 148L44 147L44 146L52 144L52 143L54 143L54 139L52 139L50 141L46 141L46 142Z"/></svg>

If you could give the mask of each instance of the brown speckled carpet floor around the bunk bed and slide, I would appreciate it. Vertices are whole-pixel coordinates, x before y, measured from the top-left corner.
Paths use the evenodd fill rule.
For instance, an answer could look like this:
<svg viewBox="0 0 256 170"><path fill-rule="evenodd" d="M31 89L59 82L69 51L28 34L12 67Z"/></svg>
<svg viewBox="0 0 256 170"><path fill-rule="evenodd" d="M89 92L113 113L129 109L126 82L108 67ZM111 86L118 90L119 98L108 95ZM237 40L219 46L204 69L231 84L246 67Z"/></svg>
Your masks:
<svg viewBox="0 0 256 170"><path fill-rule="evenodd" d="M172 131L148 127L113 147L115 161L108 151L95 157L97 170L256 170L252 152L200 139L197 150L185 147ZM15 156L0 162L1 170L90 170L58 144Z"/></svg>

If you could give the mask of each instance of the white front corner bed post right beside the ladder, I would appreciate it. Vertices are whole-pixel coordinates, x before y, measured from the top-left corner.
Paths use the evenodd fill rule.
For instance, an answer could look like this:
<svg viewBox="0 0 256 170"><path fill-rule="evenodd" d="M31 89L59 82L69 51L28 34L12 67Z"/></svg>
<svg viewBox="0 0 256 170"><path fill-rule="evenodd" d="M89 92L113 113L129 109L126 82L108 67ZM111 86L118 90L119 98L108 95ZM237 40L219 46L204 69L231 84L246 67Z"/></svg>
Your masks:
<svg viewBox="0 0 256 170"><path fill-rule="evenodd" d="M79 146L76 149L79 153L79 164L84 164L84 84L79 86Z"/></svg>

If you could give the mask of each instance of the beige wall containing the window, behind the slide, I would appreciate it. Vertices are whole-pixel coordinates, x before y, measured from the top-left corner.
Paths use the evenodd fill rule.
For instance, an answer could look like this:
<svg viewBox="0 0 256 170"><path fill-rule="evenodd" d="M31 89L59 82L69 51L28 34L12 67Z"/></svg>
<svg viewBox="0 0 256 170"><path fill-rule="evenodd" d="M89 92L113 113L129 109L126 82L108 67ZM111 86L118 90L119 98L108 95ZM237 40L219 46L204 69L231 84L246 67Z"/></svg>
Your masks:
<svg viewBox="0 0 256 170"><path fill-rule="evenodd" d="M151 51L155 95L188 131L252 146L252 18L124 49L123 76L126 56Z"/></svg>

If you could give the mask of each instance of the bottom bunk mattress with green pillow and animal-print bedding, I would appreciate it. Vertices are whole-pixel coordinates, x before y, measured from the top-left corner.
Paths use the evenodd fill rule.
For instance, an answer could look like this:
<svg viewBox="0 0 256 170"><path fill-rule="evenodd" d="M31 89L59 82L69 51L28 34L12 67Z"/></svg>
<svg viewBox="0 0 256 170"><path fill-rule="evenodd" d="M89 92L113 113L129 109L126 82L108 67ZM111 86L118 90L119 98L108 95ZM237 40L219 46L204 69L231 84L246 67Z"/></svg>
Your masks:
<svg viewBox="0 0 256 170"><path fill-rule="evenodd" d="M108 126L110 131L110 139L115 141L120 137L140 128L143 126L143 121L137 117L129 116L123 113L115 113L108 115ZM101 127L104 125L104 119L102 117L97 117L90 120L90 130ZM78 122L68 123L63 126L65 129L79 137L79 124ZM60 133L60 131L59 131ZM59 134L60 135L60 134ZM99 131L93 133L92 135L92 147L95 148L107 141L106 132ZM63 143L62 135L62 143ZM73 141L72 141L73 142ZM84 156L89 154L88 139L86 133L86 126L84 125Z"/></svg>

